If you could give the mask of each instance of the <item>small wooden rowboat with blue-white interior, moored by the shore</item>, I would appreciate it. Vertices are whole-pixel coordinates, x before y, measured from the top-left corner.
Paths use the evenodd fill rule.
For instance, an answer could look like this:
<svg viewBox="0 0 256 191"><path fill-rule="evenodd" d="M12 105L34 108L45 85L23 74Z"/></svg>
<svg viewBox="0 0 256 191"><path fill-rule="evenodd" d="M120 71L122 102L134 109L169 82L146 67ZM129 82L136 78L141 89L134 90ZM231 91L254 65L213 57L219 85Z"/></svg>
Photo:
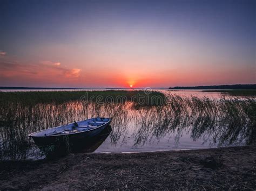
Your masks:
<svg viewBox="0 0 256 191"><path fill-rule="evenodd" d="M81 146L110 125L111 118L96 117L68 125L37 131L28 135L37 146L62 145Z"/></svg>

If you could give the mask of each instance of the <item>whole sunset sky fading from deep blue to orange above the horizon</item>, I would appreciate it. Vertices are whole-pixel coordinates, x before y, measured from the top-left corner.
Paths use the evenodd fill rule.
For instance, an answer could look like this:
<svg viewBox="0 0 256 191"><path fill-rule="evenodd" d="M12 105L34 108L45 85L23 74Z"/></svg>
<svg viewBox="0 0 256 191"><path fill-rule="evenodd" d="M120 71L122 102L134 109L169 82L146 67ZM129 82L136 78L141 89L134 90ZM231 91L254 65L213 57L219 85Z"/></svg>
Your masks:
<svg viewBox="0 0 256 191"><path fill-rule="evenodd" d="M256 1L0 0L0 86L256 83Z"/></svg>

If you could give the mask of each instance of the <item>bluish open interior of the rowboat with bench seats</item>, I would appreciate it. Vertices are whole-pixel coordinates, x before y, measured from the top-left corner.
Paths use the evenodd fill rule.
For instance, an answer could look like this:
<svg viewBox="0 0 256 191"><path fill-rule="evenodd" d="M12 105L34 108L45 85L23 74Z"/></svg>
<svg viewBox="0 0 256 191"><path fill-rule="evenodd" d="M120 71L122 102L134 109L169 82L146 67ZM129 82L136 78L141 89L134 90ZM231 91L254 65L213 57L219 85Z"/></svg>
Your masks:
<svg viewBox="0 0 256 191"><path fill-rule="evenodd" d="M55 136L55 135L65 135L71 133L77 133L81 131L88 131L91 129L95 129L98 126L102 126L105 123L109 122L109 118L92 118L87 119L81 122L74 122L69 125L59 126L57 128L46 129L44 131L39 131L32 136Z"/></svg>

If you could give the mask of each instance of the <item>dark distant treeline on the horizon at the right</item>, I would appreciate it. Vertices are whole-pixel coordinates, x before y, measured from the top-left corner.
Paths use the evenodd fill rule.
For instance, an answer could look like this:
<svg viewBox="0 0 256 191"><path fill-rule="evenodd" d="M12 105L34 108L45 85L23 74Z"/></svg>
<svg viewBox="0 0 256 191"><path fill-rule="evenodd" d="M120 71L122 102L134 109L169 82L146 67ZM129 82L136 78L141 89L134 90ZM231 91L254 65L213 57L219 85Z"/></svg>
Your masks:
<svg viewBox="0 0 256 191"><path fill-rule="evenodd" d="M176 86L169 89L256 89L256 84L234 84L220 86Z"/></svg>

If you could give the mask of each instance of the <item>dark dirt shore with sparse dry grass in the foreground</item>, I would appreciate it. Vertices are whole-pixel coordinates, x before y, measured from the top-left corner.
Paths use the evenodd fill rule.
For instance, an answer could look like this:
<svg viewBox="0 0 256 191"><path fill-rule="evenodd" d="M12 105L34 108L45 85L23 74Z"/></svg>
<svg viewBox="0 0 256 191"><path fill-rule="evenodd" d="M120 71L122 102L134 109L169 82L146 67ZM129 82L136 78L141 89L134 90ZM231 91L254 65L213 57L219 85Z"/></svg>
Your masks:
<svg viewBox="0 0 256 191"><path fill-rule="evenodd" d="M0 189L256 189L256 146L0 162Z"/></svg>

